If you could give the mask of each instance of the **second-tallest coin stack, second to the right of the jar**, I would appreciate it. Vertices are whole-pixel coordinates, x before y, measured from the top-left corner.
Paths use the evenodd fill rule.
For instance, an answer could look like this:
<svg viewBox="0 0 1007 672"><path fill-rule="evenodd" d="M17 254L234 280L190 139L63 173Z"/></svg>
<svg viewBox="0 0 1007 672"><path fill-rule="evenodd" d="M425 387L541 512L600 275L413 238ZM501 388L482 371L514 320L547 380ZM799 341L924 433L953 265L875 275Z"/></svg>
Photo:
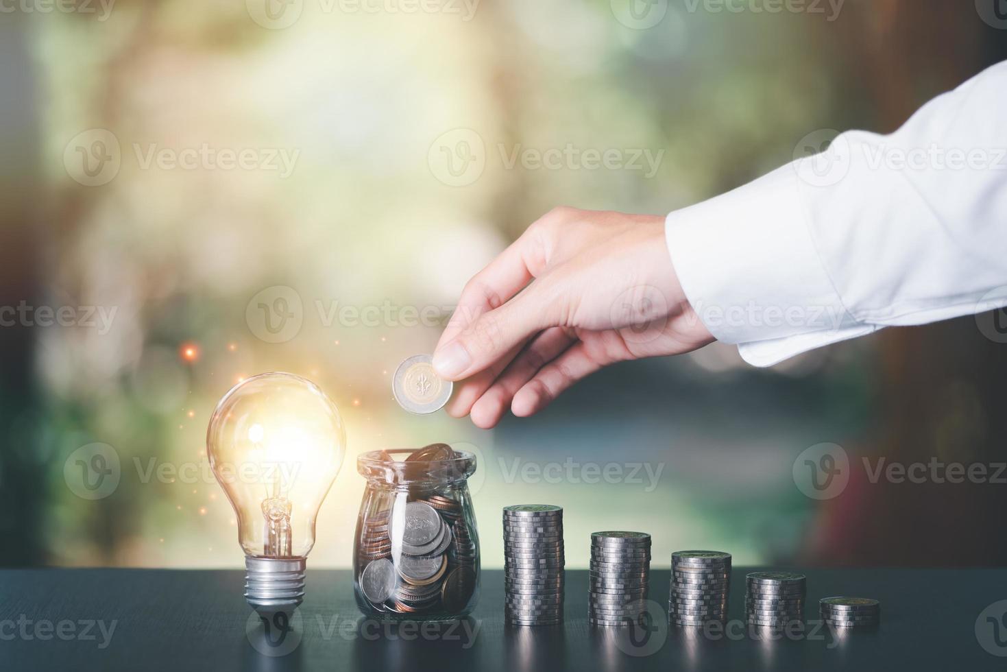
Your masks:
<svg viewBox="0 0 1007 672"><path fill-rule="evenodd" d="M587 622L627 626L646 610L651 577L651 535L594 532L588 583Z"/></svg>

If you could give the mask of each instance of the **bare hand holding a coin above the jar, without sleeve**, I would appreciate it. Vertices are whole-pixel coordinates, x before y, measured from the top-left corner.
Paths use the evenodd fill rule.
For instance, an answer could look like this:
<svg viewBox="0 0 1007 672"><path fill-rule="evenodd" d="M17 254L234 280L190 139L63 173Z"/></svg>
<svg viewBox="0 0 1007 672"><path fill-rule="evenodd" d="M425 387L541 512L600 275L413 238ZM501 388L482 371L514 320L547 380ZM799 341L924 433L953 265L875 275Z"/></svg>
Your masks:
<svg viewBox="0 0 1007 672"><path fill-rule="evenodd" d="M553 210L465 285L434 351L447 412L488 429L602 367L714 341L686 299L665 218Z"/></svg>

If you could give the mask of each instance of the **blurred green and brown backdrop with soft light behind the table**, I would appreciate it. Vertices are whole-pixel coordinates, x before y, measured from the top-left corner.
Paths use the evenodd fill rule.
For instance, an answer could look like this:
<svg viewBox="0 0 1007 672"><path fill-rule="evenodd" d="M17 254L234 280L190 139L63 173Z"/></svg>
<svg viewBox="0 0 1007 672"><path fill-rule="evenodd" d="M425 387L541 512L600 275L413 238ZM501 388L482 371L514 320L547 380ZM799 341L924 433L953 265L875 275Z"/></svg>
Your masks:
<svg viewBox="0 0 1007 672"><path fill-rule="evenodd" d="M617 366L492 431L391 397L464 282L551 208L666 214L820 129L891 131L1007 57L969 1L771 4L11 4L0 305L34 318L0 328L0 564L240 566L204 434L232 385L272 370L317 382L347 425L312 566L350 563L356 455L432 441L475 446L487 567L500 507L539 502L565 507L571 567L613 528L651 532L656 566L696 547L736 564L1007 560L1007 485L872 484L860 466L1007 459L1007 346L971 317L766 371L722 346ZM95 442L120 480L89 500L64 467ZM794 464L822 442L851 466L820 501ZM592 464L621 476L585 483Z"/></svg>

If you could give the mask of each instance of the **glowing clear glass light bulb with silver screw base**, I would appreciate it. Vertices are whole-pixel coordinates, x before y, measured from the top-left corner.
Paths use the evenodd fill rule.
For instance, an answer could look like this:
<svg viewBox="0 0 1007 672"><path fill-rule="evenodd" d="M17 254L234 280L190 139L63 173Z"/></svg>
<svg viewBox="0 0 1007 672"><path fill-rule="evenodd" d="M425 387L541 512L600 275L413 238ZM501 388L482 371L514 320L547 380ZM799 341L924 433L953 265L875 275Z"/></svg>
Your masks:
<svg viewBox="0 0 1007 672"><path fill-rule="evenodd" d="M292 611L304 598L315 519L345 443L335 404L293 374L249 378L217 405L206 454L238 516L245 597L257 611Z"/></svg>

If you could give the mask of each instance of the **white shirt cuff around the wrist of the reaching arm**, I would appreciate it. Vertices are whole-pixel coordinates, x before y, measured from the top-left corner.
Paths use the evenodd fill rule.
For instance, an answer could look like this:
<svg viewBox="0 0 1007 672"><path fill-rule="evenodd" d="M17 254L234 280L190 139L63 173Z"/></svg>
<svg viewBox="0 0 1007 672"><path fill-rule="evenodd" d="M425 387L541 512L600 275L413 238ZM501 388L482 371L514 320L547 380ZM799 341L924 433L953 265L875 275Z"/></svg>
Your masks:
<svg viewBox="0 0 1007 672"><path fill-rule="evenodd" d="M795 166L785 165L666 221L686 297L718 341L744 344L739 353L755 366L876 328L844 307L806 224L800 188Z"/></svg>

